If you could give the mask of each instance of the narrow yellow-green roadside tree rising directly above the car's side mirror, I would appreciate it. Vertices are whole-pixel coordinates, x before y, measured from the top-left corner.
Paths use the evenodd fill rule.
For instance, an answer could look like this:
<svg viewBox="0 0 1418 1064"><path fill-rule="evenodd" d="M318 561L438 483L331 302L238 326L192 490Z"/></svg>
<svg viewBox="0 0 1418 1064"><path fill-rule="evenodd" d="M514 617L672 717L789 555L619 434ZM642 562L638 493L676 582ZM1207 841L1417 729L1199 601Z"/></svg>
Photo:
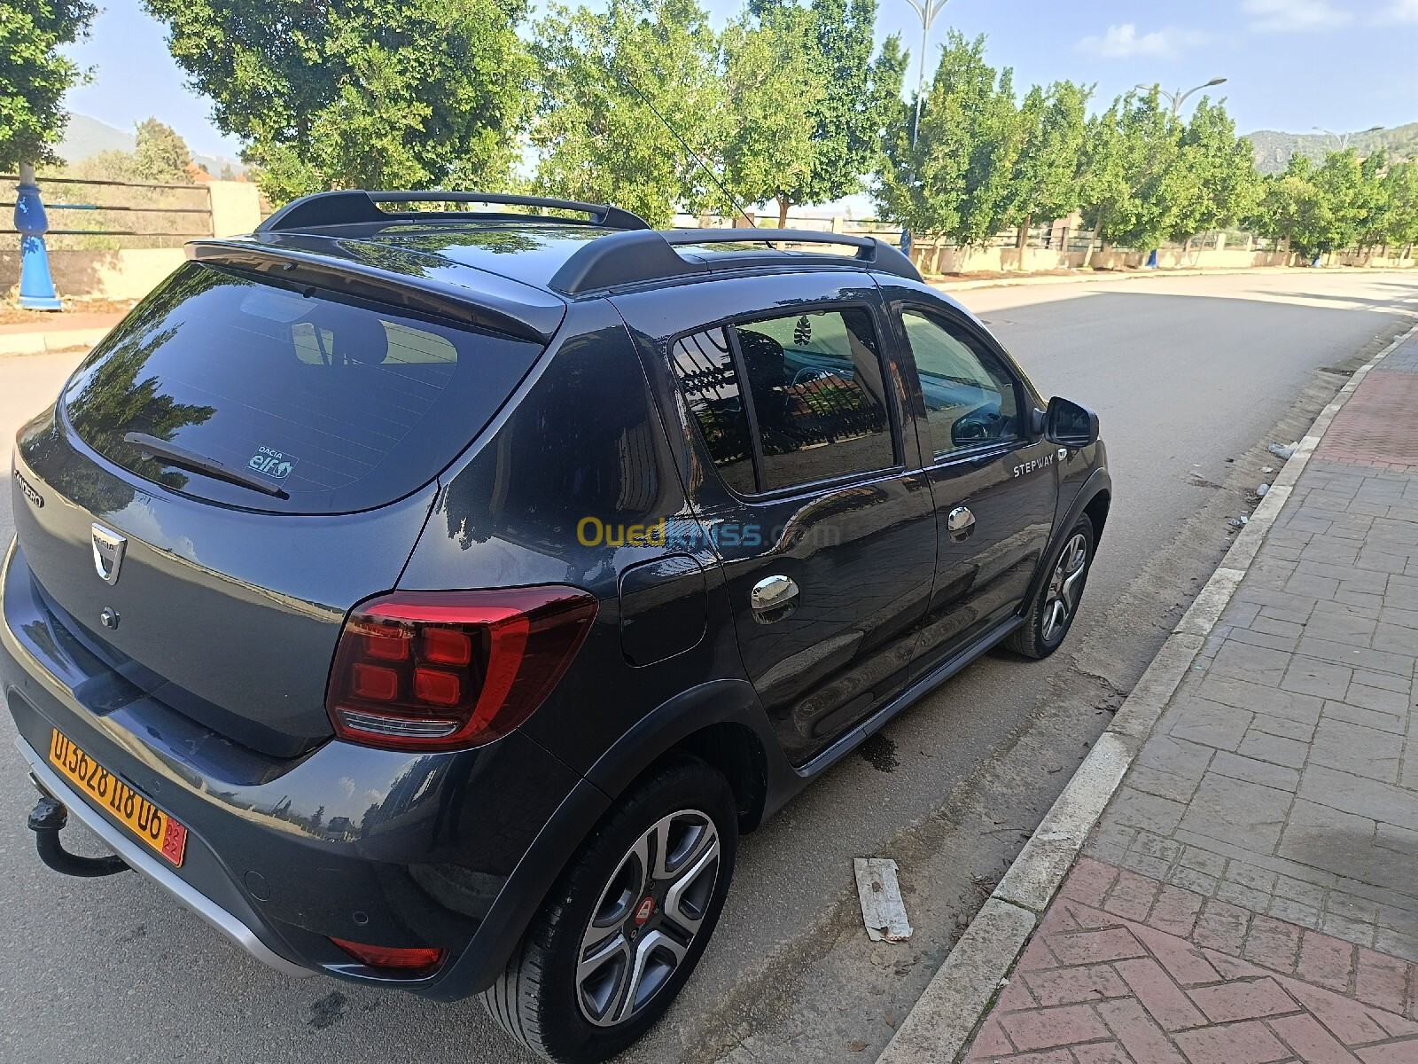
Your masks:
<svg viewBox="0 0 1418 1064"><path fill-rule="evenodd" d="M1018 245L1029 237L1038 218L1054 221L1082 206L1081 172L1085 111L1092 88L1056 81L1042 89L1035 85L1020 108L1020 153L1011 177L1012 196L1005 221L1018 227Z"/></svg>

